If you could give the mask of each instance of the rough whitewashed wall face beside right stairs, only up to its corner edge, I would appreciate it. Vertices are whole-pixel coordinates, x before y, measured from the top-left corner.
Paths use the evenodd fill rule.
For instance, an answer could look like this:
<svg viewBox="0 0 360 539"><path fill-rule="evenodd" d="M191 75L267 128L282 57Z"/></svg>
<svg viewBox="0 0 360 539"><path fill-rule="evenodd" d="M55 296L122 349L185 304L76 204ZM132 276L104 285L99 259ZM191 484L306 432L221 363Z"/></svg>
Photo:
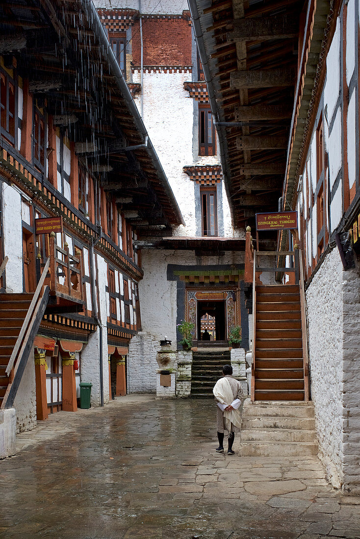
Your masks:
<svg viewBox="0 0 360 539"><path fill-rule="evenodd" d="M331 282L331 286L329 283ZM342 264L328 254L307 292L311 397L321 460L332 485L343 483Z"/></svg>

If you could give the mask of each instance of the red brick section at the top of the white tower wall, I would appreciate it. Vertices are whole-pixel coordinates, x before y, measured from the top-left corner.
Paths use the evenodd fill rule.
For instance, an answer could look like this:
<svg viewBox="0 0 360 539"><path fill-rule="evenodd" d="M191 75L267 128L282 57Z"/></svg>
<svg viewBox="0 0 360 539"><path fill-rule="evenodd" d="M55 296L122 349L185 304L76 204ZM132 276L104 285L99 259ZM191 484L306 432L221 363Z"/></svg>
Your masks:
<svg viewBox="0 0 360 539"><path fill-rule="evenodd" d="M133 64L140 65L140 27L133 26ZM186 19L143 19L144 65L192 65L191 26Z"/></svg>

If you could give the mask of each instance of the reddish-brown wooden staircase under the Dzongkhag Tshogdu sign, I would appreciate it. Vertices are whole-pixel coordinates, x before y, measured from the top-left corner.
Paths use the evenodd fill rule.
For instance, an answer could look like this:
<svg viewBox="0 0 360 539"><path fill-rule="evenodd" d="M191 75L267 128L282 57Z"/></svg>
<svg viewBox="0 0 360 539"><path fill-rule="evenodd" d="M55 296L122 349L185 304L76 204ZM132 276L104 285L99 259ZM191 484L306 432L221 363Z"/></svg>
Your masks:
<svg viewBox="0 0 360 539"><path fill-rule="evenodd" d="M299 285L257 285L254 400L305 400Z"/></svg>

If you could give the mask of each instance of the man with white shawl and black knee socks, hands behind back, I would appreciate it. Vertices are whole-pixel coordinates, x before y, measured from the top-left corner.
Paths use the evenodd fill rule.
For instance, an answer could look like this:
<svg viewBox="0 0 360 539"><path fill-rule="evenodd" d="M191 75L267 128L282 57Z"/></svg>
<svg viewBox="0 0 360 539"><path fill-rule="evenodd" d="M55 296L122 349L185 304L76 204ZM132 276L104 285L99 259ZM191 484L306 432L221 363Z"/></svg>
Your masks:
<svg viewBox="0 0 360 539"><path fill-rule="evenodd" d="M231 365L224 365L222 368L223 377L214 385L213 393L218 406L216 414L216 426L218 427L219 447L217 453L223 453L224 431L228 432L228 455L233 455L233 443L235 432L240 432L241 412L239 410L244 393L240 382L232 377L233 368Z"/></svg>

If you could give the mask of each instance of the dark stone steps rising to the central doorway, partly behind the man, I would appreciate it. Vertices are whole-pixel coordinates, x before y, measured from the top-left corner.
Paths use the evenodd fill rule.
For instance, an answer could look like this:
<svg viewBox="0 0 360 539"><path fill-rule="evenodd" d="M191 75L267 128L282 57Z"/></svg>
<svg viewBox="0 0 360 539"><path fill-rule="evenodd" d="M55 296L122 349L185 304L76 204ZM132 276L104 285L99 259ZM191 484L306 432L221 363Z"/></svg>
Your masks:
<svg viewBox="0 0 360 539"><path fill-rule="evenodd" d="M201 350L193 353L191 397L214 398L213 387L222 376L223 365L230 365L229 350Z"/></svg>

